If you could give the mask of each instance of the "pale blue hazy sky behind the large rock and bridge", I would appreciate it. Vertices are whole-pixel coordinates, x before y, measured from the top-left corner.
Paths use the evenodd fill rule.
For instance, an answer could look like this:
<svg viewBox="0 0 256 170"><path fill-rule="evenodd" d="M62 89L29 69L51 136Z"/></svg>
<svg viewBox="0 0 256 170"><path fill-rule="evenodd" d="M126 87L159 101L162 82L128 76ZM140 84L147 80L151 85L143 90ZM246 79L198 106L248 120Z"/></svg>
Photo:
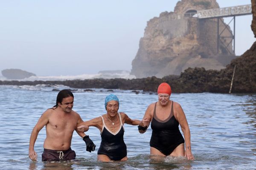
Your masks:
<svg viewBox="0 0 256 170"><path fill-rule="evenodd" d="M0 0L0 71L18 68L37 76L131 71L147 21L174 11L177 2ZM221 8L251 3L217 2ZM251 20L252 15L236 17L236 55L256 41Z"/></svg>

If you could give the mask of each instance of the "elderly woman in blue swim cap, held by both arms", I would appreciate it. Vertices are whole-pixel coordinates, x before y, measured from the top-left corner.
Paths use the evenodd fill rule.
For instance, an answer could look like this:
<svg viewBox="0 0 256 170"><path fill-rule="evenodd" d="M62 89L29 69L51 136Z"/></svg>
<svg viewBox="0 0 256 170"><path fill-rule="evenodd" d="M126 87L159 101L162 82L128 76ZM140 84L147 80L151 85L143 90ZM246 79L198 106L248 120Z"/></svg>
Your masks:
<svg viewBox="0 0 256 170"><path fill-rule="evenodd" d="M139 125L140 120L130 119L123 112L119 113L119 99L113 94L106 97L105 109L107 113L80 123L77 130L84 132L84 125L94 126L100 130L102 141L98 150L98 161L126 161L127 150L123 139L124 124Z"/></svg>

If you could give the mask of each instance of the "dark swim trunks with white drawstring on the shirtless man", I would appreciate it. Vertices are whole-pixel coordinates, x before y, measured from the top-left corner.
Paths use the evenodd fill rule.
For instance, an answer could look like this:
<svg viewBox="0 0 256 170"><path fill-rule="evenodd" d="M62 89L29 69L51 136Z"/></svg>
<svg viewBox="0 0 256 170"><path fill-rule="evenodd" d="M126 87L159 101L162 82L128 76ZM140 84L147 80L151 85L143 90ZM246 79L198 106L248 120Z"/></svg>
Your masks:
<svg viewBox="0 0 256 170"><path fill-rule="evenodd" d="M42 161L69 161L76 159L76 153L69 148L68 150L50 150L44 149Z"/></svg>

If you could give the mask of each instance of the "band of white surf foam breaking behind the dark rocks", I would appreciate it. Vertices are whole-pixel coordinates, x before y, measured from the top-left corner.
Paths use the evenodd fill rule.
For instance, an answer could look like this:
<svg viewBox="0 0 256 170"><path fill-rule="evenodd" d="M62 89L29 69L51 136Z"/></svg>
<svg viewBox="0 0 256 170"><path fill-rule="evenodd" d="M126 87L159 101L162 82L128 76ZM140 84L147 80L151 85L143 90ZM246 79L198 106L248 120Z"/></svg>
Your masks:
<svg viewBox="0 0 256 170"><path fill-rule="evenodd" d="M64 80L75 80L75 79L114 79L114 78L122 78L122 79L135 79L134 75L130 75L127 72L122 73L99 73L99 74L81 74L76 76L32 76L25 79L18 79L18 81L64 81ZM11 81L13 79L6 79L5 77L0 77L0 80L8 80Z"/></svg>

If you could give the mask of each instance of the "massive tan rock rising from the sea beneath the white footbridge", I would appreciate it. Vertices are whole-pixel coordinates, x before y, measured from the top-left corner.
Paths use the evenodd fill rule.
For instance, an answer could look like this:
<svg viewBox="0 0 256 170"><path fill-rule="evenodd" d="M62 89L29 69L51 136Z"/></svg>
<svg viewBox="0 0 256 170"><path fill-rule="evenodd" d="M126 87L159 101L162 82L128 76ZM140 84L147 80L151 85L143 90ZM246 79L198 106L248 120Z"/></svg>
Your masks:
<svg viewBox="0 0 256 170"><path fill-rule="evenodd" d="M216 0L181 0L174 12L163 12L149 20L131 74L137 78L162 78L180 75L189 67L225 68L236 56L230 38L223 38L224 44L220 43L217 51L217 19L189 17L191 12L211 8L219 8ZM220 23L220 30L224 30L226 25ZM227 26L221 36L231 37L231 32Z"/></svg>

